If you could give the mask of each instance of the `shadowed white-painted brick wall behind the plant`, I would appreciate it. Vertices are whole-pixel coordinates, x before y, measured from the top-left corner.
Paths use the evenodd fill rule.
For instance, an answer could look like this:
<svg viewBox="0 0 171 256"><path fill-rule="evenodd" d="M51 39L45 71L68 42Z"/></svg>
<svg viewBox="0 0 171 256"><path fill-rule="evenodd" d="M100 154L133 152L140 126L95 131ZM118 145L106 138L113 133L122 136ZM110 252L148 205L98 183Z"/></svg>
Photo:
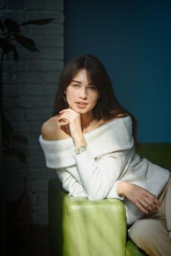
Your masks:
<svg viewBox="0 0 171 256"><path fill-rule="evenodd" d="M22 34L36 42L38 52L16 45L20 60L10 56L4 63L4 113L12 122L15 134L28 138L27 162L5 157L7 200L18 200L23 190L23 178L28 177L28 200L31 222L47 223L47 184L56 176L45 167L39 146L42 123L50 118L56 94L58 76L64 65L63 0L3 0L1 17L18 23L26 20L54 18L44 26L23 26Z"/></svg>

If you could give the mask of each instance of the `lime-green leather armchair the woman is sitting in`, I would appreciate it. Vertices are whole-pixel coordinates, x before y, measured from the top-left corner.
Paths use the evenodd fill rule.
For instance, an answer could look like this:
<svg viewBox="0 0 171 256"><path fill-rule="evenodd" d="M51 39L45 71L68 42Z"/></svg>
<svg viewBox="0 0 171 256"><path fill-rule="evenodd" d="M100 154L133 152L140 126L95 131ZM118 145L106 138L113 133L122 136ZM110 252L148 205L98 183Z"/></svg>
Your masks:
<svg viewBox="0 0 171 256"><path fill-rule="evenodd" d="M171 143L141 144L137 153L171 170ZM50 256L145 255L127 237L121 200L72 197L54 178L49 181L48 214Z"/></svg>

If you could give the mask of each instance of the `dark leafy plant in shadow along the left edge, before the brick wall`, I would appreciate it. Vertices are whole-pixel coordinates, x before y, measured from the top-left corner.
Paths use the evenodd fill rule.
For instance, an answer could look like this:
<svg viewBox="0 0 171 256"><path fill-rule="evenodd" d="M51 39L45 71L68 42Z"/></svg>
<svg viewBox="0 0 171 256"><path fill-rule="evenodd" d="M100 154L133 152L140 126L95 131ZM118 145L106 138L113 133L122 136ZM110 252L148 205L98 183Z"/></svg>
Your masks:
<svg viewBox="0 0 171 256"><path fill-rule="evenodd" d="M53 20L53 18L46 18L41 20L28 20L23 23L17 23L15 20L11 18L5 18L0 20L0 204L1 204L1 236L2 238L6 238L6 226L4 223L6 223L5 219L5 197L4 197L4 165L3 165L3 159L4 154L9 154L14 157L18 157L21 162L26 162L26 153L24 151L24 148L22 145L25 145L28 143L28 140L21 136L21 135L15 135L12 124L9 122L9 120L5 117L3 112L3 70L4 66L7 63L7 55L12 55L13 59L15 60L15 63L19 60L19 53L18 49L16 48L14 42L18 42L19 45L22 45L23 48L26 48L27 50L31 52L39 52L39 49L37 48L36 43L34 42L34 39L31 39L30 37L26 37L21 33L21 28L23 26L27 25L36 25L36 26L43 26L47 23L50 23ZM1 140L2 139L2 140ZM20 233L20 230L22 231L23 227L20 227L20 213L18 211L22 211L24 209L25 211L25 219L23 219L23 222L25 221L25 224L28 225L28 214L26 214L26 203L28 200L27 191L26 191L26 178L23 182L23 192L22 195L20 195L20 198L18 200L18 210L15 214L15 222L13 222L13 230L18 230L19 235L16 237L18 240L26 240L26 236L28 236L28 233L26 233L26 236L24 237L23 234ZM18 225L17 228L15 225ZM22 237L23 236L23 237ZM4 245L5 245L4 241ZM4 246L4 251L5 251ZM5 252L2 252L2 255L5 255Z"/></svg>

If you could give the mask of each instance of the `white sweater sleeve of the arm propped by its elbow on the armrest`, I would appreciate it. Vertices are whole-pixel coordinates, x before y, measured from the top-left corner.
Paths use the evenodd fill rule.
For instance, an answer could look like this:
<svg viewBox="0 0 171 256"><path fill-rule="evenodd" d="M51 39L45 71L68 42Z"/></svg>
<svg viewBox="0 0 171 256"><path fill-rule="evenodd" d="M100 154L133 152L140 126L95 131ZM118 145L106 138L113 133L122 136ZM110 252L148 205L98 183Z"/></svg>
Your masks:
<svg viewBox="0 0 171 256"><path fill-rule="evenodd" d="M112 190L113 197L123 200L117 194L117 183L126 172L134 154L134 148L107 154L94 159L88 149L75 154L80 180L89 200L101 200Z"/></svg>

